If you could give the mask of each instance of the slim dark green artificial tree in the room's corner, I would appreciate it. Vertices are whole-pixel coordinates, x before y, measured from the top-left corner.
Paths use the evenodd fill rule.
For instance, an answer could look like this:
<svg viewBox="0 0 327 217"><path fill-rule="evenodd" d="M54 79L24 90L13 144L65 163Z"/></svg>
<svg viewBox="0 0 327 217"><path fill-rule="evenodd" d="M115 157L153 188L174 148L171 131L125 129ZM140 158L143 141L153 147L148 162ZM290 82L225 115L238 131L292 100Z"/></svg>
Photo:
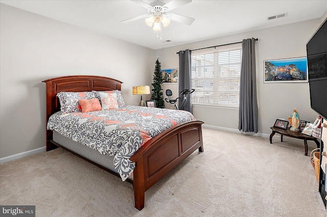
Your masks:
<svg viewBox="0 0 327 217"><path fill-rule="evenodd" d="M153 75L153 89L151 99L155 100L155 105L157 108L165 108L164 94L161 92L161 84L164 79L161 73L161 63L157 59L155 61L154 75Z"/></svg>

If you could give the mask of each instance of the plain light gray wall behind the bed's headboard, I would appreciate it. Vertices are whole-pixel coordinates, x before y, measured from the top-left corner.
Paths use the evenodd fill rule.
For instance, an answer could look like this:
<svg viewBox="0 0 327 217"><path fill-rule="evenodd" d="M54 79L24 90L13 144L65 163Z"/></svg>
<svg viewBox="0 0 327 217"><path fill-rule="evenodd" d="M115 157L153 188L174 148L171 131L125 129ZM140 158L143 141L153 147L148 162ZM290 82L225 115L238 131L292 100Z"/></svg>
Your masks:
<svg viewBox="0 0 327 217"><path fill-rule="evenodd" d="M66 75L101 75L151 85L154 50L1 4L0 158L45 146L45 84ZM150 61L149 61L150 60ZM145 97L145 99L150 96Z"/></svg>

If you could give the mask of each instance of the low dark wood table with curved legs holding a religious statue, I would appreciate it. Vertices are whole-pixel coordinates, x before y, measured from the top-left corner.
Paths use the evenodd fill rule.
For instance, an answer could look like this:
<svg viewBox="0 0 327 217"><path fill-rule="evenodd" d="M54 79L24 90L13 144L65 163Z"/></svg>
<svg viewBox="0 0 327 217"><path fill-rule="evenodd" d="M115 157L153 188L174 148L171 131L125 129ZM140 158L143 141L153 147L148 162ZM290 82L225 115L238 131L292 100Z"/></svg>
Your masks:
<svg viewBox="0 0 327 217"><path fill-rule="evenodd" d="M281 134L281 142L283 142L283 135L286 135L288 137L292 137L292 138L296 138L296 139L300 139L300 140L304 140L305 141L305 155L308 156L308 140L312 140L317 144L317 148L320 147L320 143L318 142L317 138L311 137L311 135L306 135L303 134L301 132L293 132L291 131L289 128L287 129L279 129L277 127L270 127L270 129L272 130L271 134L270 134L270 144L272 144L272 137L274 136L275 133L279 133Z"/></svg>

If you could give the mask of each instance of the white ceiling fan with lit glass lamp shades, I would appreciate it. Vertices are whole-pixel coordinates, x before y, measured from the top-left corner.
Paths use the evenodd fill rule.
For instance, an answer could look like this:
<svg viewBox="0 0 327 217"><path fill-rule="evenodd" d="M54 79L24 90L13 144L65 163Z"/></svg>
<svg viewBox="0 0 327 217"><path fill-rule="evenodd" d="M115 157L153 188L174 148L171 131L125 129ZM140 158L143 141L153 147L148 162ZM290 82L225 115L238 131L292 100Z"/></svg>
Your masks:
<svg viewBox="0 0 327 217"><path fill-rule="evenodd" d="M147 25L152 26L153 25L153 30L155 31L160 31L161 28L161 23L164 27L168 26L170 23L170 20L174 20L180 23L184 23L187 25L191 25L193 21L195 20L194 18L191 17L186 17L178 14L172 14L172 13L167 13L175 8L178 8L182 5L186 5L192 2L192 0L184 0L184 1L170 1L169 3L165 4L159 1L154 1L150 5L145 3L142 0L131 0L132 2L138 4L139 6L142 6L146 9L148 9L148 14L140 15L137 17L133 17L130 19L126 19L121 21L122 23L128 23L131 21L135 21L138 19L146 18L145 21Z"/></svg>

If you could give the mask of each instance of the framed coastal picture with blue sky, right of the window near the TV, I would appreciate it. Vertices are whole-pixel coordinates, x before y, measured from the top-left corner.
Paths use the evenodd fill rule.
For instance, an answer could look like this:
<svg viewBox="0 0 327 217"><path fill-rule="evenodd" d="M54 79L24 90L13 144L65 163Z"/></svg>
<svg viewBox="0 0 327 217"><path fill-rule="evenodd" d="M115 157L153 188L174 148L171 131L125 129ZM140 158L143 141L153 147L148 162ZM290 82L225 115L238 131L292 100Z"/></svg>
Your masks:
<svg viewBox="0 0 327 217"><path fill-rule="evenodd" d="M289 58L264 61L264 83L308 82L307 58Z"/></svg>

